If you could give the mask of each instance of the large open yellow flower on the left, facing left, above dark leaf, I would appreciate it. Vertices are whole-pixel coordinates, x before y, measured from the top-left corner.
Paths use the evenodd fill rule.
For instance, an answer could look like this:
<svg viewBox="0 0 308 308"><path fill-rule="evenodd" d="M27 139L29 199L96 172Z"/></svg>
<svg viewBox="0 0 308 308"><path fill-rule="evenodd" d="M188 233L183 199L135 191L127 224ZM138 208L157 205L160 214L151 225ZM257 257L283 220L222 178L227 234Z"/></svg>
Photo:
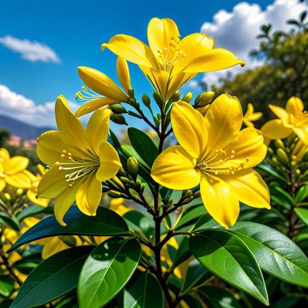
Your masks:
<svg viewBox="0 0 308 308"><path fill-rule="evenodd" d="M96 214L101 182L114 177L121 167L117 151L107 142L110 115L111 110L98 109L84 129L61 95L56 101L59 131L48 131L38 138L39 159L53 166L38 184L38 196L58 197L54 210L63 226L63 217L75 200L82 213Z"/></svg>

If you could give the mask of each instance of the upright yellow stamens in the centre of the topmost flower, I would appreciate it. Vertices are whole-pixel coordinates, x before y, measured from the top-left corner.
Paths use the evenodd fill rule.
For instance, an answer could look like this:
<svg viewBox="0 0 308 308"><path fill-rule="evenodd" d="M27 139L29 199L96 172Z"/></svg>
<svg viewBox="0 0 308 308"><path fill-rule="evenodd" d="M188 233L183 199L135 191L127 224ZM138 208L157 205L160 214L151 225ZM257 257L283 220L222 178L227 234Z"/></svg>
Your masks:
<svg viewBox="0 0 308 308"><path fill-rule="evenodd" d="M183 50L179 49L180 36L170 38L169 46L165 46L163 50L157 50L158 58L162 60L165 71L170 72L175 64L186 57Z"/></svg>

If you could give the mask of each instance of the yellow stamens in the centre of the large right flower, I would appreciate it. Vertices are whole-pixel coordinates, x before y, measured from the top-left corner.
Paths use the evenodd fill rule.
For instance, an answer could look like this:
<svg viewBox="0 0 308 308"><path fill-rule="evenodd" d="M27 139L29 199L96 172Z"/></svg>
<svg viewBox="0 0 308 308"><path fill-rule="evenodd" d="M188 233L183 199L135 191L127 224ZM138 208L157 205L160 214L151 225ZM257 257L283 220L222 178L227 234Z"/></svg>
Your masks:
<svg viewBox="0 0 308 308"><path fill-rule="evenodd" d="M223 157L223 158L221 158ZM215 155L204 162L200 162L196 165L196 168L203 172L211 172L215 175L219 174L219 170L226 171L228 170L229 173L234 174L235 171L243 169L245 163L242 162L235 166L230 166L231 161L235 157L235 151L232 150L231 154L227 156L227 153L223 149L216 150ZM245 159L245 162L249 162L249 158Z"/></svg>

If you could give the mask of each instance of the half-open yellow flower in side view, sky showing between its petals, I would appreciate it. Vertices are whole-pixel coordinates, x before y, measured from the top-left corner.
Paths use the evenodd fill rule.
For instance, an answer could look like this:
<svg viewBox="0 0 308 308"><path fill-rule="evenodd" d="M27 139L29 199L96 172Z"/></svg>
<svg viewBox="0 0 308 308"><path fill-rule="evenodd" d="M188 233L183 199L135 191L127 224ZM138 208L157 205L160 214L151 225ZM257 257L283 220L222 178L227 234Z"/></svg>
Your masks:
<svg viewBox="0 0 308 308"><path fill-rule="evenodd" d="M129 70L126 60L121 57L118 57L117 72L121 85L128 94L128 89L130 88ZM83 87L83 93L78 92L76 99L78 100L79 98L86 103L78 108L75 113L76 117L88 114L106 105L129 101L129 96L104 73L85 66L78 67L78 73L86 86L99 95L91 93L86 87Z"/></svg>

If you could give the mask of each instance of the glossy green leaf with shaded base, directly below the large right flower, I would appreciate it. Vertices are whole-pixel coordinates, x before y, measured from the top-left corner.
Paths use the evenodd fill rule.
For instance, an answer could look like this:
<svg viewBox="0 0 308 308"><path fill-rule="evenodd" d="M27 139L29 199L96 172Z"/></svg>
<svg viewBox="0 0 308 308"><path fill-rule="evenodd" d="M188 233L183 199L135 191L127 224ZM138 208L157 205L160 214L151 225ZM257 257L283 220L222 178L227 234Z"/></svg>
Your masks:
<svg viewBox="0 0 308 308"><path fill-rule="evenodd" d="M268 305L258 262L246 244L225 230L207 230L190 237L189 248L210 272Z"/></svg>

